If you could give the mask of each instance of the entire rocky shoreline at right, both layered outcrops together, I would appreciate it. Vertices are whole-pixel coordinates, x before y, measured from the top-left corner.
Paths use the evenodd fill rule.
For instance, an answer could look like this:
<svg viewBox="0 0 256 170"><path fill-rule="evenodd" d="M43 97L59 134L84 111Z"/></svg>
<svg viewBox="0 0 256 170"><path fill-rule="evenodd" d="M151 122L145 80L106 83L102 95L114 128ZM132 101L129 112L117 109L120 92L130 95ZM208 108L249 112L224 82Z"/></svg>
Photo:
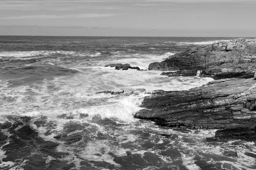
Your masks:
<svg viewBox="0 0 256 170"><path fill-rule="evenodd" d="M224 129L218 139L256 141L256 39L219 41L154 62L166 76L209 76L214 81L187 91L159 91L144 99L134 117L161 126Z"/></svg>

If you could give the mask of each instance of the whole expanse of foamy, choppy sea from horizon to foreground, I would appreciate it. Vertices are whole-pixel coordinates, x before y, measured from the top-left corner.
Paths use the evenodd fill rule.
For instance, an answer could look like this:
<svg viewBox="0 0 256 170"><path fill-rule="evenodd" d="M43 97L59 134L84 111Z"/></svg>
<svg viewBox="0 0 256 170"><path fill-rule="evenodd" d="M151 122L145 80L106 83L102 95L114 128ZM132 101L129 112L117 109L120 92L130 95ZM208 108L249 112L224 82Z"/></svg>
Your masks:
<svg viewBox="0 0 256 170"><path fill-rule="evenodd" d="M0 167L256 169L253 142L207 142L216 130L172 129L133 117L150 91L212 80L162 76L146 71L151 62L230 39L0 36ZM104 67L110 63L144 70Z"/></svg>

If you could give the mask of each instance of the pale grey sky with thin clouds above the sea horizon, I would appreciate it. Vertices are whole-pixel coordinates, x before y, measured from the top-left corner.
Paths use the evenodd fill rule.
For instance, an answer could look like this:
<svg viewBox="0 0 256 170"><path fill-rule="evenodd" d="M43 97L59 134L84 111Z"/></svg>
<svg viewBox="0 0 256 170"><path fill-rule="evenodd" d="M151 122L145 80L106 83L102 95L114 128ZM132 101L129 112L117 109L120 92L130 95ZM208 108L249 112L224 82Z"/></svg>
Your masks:
<svg viewBox="0 0 256 170"><path fill-rule="evenodd" d="M255 0L0 0L0 35L256 37Z"/></svg>

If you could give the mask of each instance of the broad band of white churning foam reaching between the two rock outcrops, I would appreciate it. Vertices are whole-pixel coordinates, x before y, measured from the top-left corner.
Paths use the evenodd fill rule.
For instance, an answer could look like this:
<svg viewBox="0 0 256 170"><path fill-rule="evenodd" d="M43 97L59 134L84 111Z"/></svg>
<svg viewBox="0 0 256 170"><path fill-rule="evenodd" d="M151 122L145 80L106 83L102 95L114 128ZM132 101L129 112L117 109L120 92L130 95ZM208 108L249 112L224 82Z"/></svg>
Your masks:
<svg viewBox="0 0 256 170"><path fill-rule="evenodd" d="M76 74L44 80L36 86L2 86L2 114L20 114L35 117L42 111L61 108L65 111L88 112L92 116L117 117L133 122L132 114L138 111L140 95L114 97L111 94L96 94L100 91L125 90L146 92L154 90L188 90L208 83L211 78L160 76L162 71L114 70L113 67L92 67L86 74ZM114 98L113 98L114 97ZM61 112L61 111L60 111ZM112 113L113 112L113 113ZM112 115L110 114L112 113ZM57 114L57 113L54 113Z"/></svg>

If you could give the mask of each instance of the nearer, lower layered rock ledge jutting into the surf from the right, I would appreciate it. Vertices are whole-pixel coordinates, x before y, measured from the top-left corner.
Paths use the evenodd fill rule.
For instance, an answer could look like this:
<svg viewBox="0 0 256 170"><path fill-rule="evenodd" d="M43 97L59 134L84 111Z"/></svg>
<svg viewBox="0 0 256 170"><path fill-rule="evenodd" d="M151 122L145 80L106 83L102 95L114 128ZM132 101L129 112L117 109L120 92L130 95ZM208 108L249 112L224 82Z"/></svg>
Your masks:
<svg viewBox="0 0 256 170"><path fill-rule="evenodd" d="M161 126L245 128L255 134L255 101L254 78L220 79L191 90L155 92L144 98L143 109L134 117L155 121Z"/></svg>

